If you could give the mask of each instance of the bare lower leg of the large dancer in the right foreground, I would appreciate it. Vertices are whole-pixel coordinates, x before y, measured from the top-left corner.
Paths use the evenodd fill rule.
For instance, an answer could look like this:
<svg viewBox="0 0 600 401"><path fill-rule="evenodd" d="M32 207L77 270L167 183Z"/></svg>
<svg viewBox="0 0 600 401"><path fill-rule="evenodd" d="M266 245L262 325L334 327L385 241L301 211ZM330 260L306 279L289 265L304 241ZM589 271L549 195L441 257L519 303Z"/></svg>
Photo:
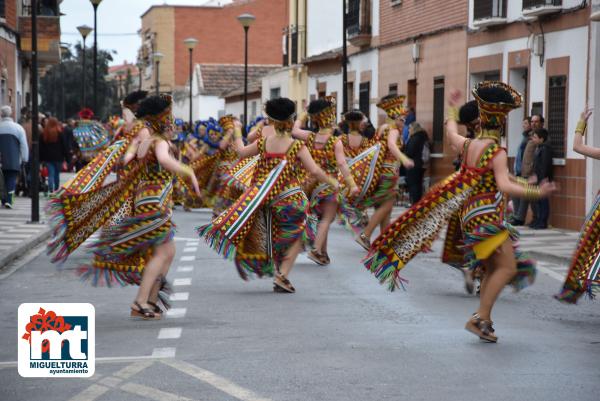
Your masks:
<svg viewBox="0 0 600 401"><path fill-rule="evenodd" d="M486 272L479 295L477 313L483 320L491 320L492 308L498 296L517 274L517 261L512 241L506 240L486 262Z"/></svg>

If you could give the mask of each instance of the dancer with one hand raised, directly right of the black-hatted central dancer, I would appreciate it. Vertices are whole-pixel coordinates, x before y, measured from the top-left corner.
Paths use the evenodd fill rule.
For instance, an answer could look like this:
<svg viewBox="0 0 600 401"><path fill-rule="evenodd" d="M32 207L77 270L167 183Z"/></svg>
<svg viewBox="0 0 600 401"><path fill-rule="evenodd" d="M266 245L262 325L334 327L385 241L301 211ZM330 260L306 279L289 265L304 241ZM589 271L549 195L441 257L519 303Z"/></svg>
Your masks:
<svg viewBox="0 0 600 401"><path fill-rule="evenodd" d="M350 174L344 145L339 136L334 134L335 115L336 104L333 98L314 100L308 105L308 116L313 127L318 131L315 133L303 130L301 127L306 123L307 118L304 117L296 121L292 135L304 141L313 160L330 177L341 174L344 182L347 183L348 195L352 197L358 194L359 189ZM304 192L309 199L305 236L309 248L308 258L321 266L326 266L331 263L327 254L327 235L337 214L339 192L326 183L319 183L316 177L307 177Z"/></svg>

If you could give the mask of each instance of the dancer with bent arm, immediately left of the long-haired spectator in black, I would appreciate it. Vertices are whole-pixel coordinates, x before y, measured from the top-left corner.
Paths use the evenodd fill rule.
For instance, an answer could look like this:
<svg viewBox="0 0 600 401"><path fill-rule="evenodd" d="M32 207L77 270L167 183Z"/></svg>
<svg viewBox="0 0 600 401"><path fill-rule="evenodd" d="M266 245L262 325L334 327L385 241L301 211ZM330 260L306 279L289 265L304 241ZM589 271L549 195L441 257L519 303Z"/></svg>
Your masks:
<svg viewBox="0 0 600 401"><path fill-rule="evenodd" d="M376 189L364 200L364 207L374 207L375 213L369 223L357 238L363 248L369 250L371 235L377 226L383 231L390 222L394 202L398 197L398 181L400 179L400 163L406 168L412 168L414 163L400 151L402 137L400 132L404 127L404 119L408 113L404 107L406 96L388 95L381 99L377 107L387 114L387 122L379 127L376 139L381 144L381 168Z"/></svg>

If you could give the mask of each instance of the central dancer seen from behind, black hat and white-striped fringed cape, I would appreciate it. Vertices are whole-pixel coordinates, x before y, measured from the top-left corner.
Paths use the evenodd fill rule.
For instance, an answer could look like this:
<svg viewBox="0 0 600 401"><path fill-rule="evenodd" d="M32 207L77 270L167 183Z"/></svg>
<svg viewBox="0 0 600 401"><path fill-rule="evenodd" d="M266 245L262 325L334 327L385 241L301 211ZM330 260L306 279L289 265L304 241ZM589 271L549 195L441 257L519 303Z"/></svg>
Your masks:
<svg viewBox="0 0 600 401"><path fill-rule="evenodd" d="M227 259L233 259L242 279L249 275L273 276L276 292L295 292L288 280L301 251L308 201L300 188L302 167L322 182L337 187L314 162L301 141L291 137L295 103L287 98L269 100L269 120L263 131L270 135L244 146L236 122L234 139L240 157L259 155L252 185L212 223L198 233ZM266 136L266 138L265 138Z"/></svg>

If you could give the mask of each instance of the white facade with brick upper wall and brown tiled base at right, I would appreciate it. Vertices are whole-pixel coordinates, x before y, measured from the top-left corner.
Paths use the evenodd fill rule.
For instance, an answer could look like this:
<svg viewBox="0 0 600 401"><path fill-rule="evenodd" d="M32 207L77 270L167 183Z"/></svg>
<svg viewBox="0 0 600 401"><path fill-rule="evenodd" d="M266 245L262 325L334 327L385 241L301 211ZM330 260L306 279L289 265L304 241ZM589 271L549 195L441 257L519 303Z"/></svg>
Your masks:
<svg viewBox="0 0 600 401"><path fill-rule="evenodd" d="M523 118L544 117L554 176L561 186L551 198L550 224L574 230L592 197L586 184L592 162L572 150L580 113L598 99L589 54L591 33L597 32L591 25L597 23L590 20L590 12L589 2L579 0L469 2L469 88L483 79L500 79L523 94L524 107L511 112L507 123L505 145L511 158L521 142ZM597 49L595 53L597 57Z"/></svg>

